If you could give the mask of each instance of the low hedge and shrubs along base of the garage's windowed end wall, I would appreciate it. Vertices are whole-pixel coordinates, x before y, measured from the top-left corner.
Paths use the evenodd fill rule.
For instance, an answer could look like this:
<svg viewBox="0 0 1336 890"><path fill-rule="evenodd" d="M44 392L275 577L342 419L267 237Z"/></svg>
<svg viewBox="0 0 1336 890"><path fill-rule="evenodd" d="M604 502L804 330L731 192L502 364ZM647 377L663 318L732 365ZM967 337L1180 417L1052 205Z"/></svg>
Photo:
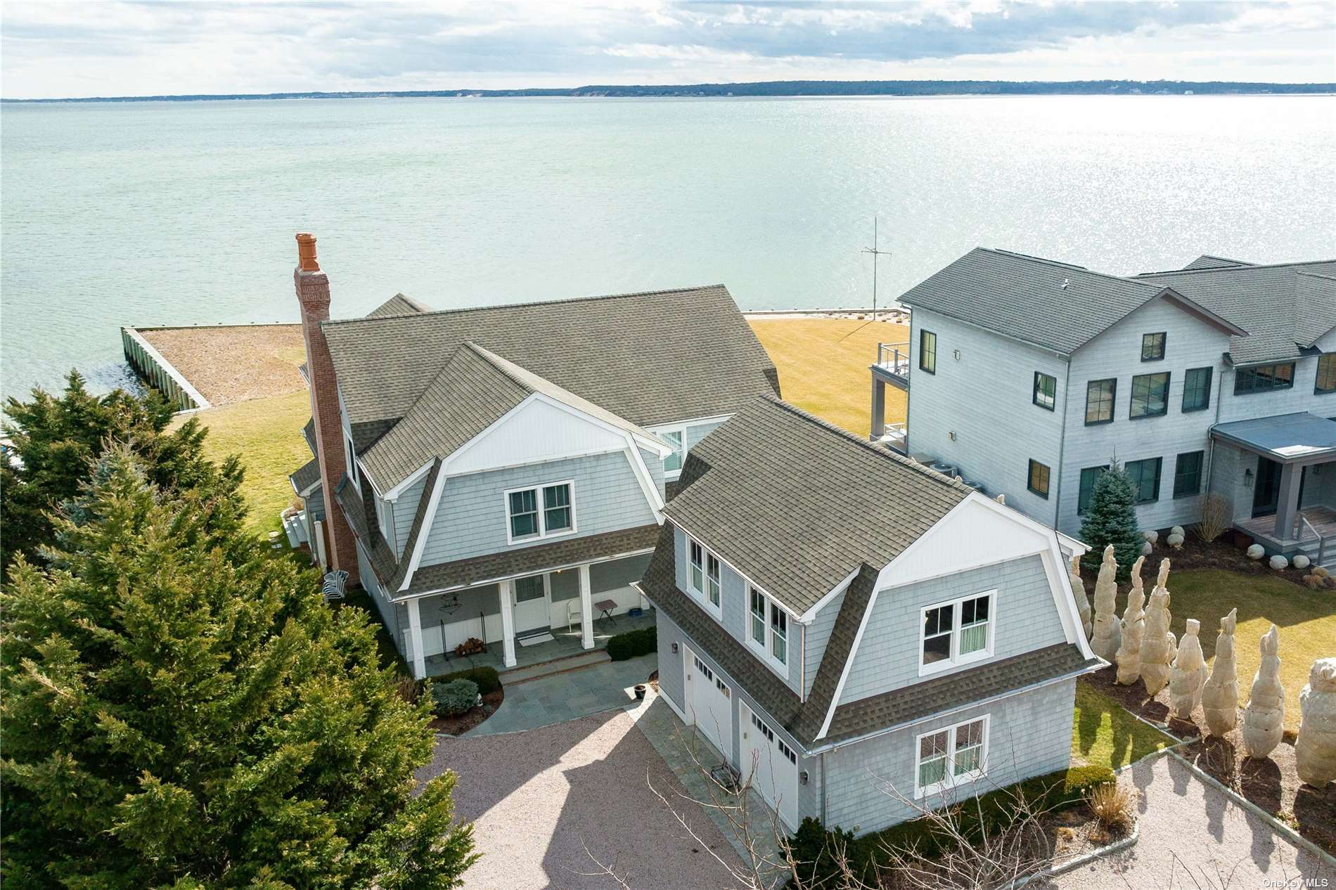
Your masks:
<svg viewBox="0 0 1336 890"><path fill-rule="evenodd" d="M1017 790L1027 800L1034 802L1037 808L1062 810L1085 800L1096 787L1113 780L1113 770L1105 766L1071 767L1026 779L981 795L978 804L973 798L961 800L959 803L969 806L961 807L959 825L966 837L981 839L985 833L994 834L1011 825L1015 818L1011 802ZM810 879L812 886L836 885L839 869L835 865L834 851L839 847L844 849L854 875L875 886L878 869L888 865L886 861L887 847L899 850L916 847L923 855L937 857L942 854L947 838L935 834L931 821L926 818L900 822L882 831L854 838L850 831L839 829L827 831L820 821L808 817L790 838L790 843L794 858L802 863L803 877Z"/></svg>

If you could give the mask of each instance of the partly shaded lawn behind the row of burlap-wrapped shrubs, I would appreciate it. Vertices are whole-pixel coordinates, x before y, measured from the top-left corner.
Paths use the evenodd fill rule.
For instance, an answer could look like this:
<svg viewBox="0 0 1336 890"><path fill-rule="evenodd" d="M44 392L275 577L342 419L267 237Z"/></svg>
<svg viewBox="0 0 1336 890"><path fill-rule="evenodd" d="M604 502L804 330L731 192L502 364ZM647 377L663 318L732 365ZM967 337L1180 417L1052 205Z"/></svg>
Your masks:
<svg viewBox="0 0 1336 890"><path fill-rule="evenodd" d="M1181 637L1188 619L1201 621L1201 648L1206 663L1214 664L1220 619L1238 609L1234 652L1238 659L1238 704L1248 703L1253 674L1261 661L1259 641L1275 624L1280 629L1280 675L1285 686L1285 727L1299 728L1299 692L1308 683L1313 661L1336 653L1336 593L1309 591L1272 575L1240 575L1225 569L1169 572L1169 629ZM1158 567L1161 552L1154 553ZM1146 560L1148 567L1152 560ZM1154 583L1153 569L1145 572L1146 588ZM1126 605L1126 591L1118 593L1118 613Z"/></svg>

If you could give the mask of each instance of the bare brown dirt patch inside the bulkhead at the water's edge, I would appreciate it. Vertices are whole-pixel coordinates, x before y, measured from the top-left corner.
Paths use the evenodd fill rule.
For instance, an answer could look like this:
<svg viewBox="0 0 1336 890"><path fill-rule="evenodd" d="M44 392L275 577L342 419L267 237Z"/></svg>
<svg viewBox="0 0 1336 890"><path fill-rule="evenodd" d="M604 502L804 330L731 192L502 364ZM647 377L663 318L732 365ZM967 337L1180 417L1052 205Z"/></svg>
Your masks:
<svg viewBox="0 0 1336 890"><path fill-rule="evenodd" d="M218 325L140 330L204 398L230 405L306 388L301 325Z"/></svg>

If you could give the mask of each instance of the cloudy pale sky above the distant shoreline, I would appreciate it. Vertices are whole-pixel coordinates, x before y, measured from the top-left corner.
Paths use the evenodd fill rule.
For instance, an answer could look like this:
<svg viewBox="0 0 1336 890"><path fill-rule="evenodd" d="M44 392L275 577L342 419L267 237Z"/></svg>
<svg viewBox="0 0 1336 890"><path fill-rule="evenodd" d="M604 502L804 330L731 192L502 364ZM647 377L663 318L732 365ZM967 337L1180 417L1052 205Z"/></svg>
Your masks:
<svg viewBox="0 0 1336 890"><path fill-rule="evenodd" d="M1336 0L0 1L8 99L1105 78L1336 82Z"/></svg>

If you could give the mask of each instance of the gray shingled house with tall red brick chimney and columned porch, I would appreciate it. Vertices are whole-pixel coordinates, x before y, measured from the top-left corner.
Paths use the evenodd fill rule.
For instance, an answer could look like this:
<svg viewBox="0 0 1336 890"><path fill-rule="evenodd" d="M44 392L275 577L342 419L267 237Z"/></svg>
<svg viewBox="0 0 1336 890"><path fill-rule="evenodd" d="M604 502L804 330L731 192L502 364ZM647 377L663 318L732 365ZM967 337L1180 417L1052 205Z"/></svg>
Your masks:
<svg viewBox="0 0 1336 890"><path fill-rule="evenodd" d="M303 241L309 239L309 241ZM329 321L298 237L322 561L371 595L414 675L536 664L652 623L644 573L691 448L774 363L723 286ZM640 617L629 611L643 611Z"/></svg>

